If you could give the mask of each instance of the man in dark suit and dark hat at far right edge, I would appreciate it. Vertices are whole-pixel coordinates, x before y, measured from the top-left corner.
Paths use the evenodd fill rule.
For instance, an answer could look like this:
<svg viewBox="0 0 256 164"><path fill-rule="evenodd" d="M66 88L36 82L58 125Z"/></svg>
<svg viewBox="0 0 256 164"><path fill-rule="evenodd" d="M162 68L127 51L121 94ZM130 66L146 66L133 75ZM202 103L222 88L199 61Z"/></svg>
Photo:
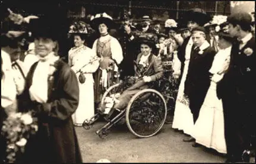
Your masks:
<svg viewBox="0 0 256 164"><path fill-rule="evenodd" d="M229 69L217 85L225 120L227 162L249 162L251 135L255 131L256 53L250 32L251 16L246 12L227 18L233 43Z"/></svg>

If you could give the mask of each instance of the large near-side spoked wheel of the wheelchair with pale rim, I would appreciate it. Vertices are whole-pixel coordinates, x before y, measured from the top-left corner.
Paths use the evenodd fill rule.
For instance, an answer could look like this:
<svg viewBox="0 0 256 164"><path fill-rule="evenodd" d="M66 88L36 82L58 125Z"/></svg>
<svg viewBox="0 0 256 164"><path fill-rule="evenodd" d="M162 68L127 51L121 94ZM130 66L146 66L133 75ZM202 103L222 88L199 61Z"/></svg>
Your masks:
<svg viewBox="0 0 256 164"><path fill-rule="evenodd" d="M166 102L160 92L144 89L129 101L126 110L127 126L137 137L151 137L163 127L166 114Z"/></svg>

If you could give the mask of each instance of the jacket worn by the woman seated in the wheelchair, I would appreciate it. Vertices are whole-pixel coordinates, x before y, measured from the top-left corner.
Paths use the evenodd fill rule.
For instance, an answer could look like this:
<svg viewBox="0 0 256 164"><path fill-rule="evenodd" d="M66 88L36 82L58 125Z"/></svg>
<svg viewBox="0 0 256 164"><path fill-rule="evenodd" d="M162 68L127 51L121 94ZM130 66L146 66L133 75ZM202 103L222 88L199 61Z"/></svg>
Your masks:
<svg viewBox="0 0 256 164"><path fill-rule="evenodd" d="M141 58L141 53L138 54L137 60L135 62L135 73L136 75L141 75L143 76L150 76L151 78L151 82L157 81L158 79L162 78L163 76L163 67L162 67L162 62L160 57L155 56L154 54L150 54L150 56L148 56L148 66L146 68L146 70L144 70L143 72L140 72L138 70L138 62L140 62L140 58ZM128 88L128 90L132 90L132 89L146 89L148 88L148 84L144 81L138 81L137 83L135 83L134 85L132 85L130 88Z"/></svg>

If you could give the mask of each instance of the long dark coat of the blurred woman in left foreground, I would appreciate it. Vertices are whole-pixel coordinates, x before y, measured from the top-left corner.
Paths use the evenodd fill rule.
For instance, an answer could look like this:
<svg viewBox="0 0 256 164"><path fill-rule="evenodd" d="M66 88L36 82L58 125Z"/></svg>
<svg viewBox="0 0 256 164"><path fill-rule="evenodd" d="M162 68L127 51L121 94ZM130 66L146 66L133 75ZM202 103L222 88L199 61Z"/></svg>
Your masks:
<svg viewBox="0 0 256 164"><path fill-rule="evenodd" d="M33 109L39 130L29 139L21 162L26 163L81 163L81 154L71 115L79 101L78 81L75 73L62 60L57 62L52 82L49 81L48 102L32 102L29 88L38 62L31 66L26 88L19 98L21 112Z"/></svg>

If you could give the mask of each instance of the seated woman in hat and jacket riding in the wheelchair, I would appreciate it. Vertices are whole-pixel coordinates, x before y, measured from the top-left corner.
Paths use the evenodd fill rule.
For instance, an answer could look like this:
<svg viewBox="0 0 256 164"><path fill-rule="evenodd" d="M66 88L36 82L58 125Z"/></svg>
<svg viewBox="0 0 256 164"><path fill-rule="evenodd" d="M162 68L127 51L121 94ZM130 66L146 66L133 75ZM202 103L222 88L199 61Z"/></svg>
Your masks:
<svg viewBox="0 0 256 164"><path fill-rule="evenodd" d="M150 36L150 35L148 35ZM157 81L163 76L163 67L160 57L155 56L152 53L153 49L156 49L156 43L150 38L138 38L137 43L140 44L141 53L138 54L135 62L135 77L140 81L134 83L134 85L125 89L121 96L118 98L119 102L113 105L112 110L109 112L108 117L111 118L114 111L124 110L132 96L138 91L150 87L150 82ZM100 109L104 111L105 109Z"/></svg>

